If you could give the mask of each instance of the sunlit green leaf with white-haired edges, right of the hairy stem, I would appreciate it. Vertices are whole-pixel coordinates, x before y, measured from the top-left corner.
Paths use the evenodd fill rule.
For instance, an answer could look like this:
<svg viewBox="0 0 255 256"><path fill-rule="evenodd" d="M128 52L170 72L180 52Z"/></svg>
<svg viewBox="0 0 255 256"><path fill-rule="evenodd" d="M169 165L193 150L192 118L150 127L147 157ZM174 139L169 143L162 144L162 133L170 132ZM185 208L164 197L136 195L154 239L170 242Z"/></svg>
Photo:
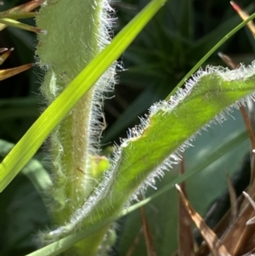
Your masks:
<svg viewBox="0 0 255 256"><path fill-rule="evenodd" d="M191 82L195 86L187 85L185 93L179 91L172 100L153 105L149 119L130 130L129 139L116 150L115 164L107 175L114 182L110 189L102 188L108 196L99 199L97 209L101 213L94 214L94 221L116 213L144 180L153 185L154 178L176 161L176 156L169 156L214 117L215 122L223 122L230 111L225 108L238 107L237 100L252 94L254 69L254 65L236 71L208 68Z"/></svg>

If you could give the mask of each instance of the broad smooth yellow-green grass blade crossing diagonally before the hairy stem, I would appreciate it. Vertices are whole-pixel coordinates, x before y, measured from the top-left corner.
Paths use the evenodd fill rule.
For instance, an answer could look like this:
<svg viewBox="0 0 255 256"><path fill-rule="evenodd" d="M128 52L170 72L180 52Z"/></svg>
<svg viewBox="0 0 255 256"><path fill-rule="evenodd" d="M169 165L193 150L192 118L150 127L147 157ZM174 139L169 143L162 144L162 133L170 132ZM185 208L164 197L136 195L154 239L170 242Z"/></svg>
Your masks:
<svg viewBox="0 0 255 256"><path fill-rule="evenodd" d="M82 95L94 85L104 71L115 61L148 21L167 0L151 1L65 89L65 91L48 106L26 134L20 139L0 165L0 191L14 179L15 175L26 165L54 127L77 104Z"/></svg>

